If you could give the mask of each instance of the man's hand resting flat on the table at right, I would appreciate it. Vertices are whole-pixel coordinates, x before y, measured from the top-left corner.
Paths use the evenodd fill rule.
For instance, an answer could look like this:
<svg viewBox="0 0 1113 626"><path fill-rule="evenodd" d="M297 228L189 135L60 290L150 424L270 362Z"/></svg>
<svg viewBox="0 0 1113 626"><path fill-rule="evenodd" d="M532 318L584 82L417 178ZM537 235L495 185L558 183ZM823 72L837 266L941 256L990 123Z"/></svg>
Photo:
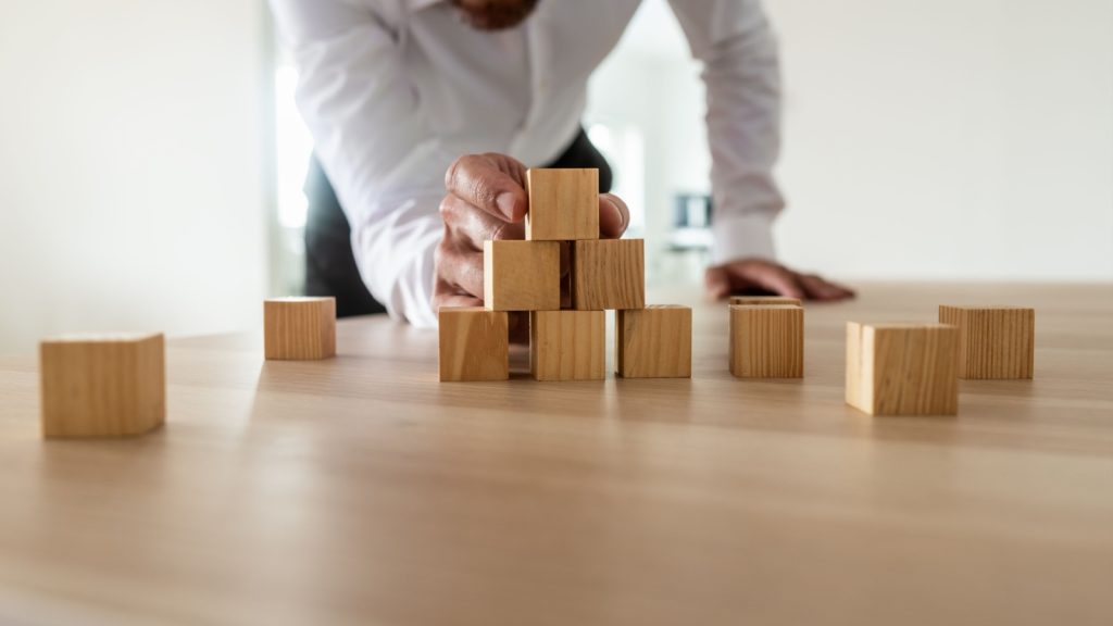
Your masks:
<svg viewBox="0 0 1113 626"><path fill-rule="evenodd" d="M834 302L854 297L854 291L815 274L794 272L764 258L743 258L707 268L707 294L721 300L732 293L771 293L801 300Z"/></svg>

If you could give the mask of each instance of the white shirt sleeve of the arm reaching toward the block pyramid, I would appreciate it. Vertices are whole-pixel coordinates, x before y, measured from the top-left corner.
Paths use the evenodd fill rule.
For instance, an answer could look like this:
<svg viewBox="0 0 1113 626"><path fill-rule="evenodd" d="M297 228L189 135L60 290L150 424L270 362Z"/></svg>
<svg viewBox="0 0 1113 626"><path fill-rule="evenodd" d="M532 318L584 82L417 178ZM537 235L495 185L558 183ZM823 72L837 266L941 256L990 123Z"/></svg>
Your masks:
<svg viewBox="0 0 1113 626"><path fill-rule="evenodd" d="M436 324L433 252L447 150L432 136L386 4L270 0L298 68L297 104L352 225L356 264L391 316Z"/></svg>

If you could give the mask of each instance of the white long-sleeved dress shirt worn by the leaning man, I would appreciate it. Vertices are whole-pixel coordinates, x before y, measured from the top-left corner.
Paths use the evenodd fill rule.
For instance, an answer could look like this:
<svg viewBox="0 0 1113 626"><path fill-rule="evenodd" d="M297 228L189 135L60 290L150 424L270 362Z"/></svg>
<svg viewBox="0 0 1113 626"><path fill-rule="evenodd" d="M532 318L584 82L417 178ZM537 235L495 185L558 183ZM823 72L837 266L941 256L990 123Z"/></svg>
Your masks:
<svg viewBox="0 0 1113 626"><path fill-rule="evenodd" d="M640 0L541 0L522 25L493 32L462 22L444 0L270 2L361 275L392 316L431 326L449 165L470 153L529 167L560 156L579 129L588 78ZM760 0L670 3L705 63L712 258L772 257L780 90Z"/></svg>

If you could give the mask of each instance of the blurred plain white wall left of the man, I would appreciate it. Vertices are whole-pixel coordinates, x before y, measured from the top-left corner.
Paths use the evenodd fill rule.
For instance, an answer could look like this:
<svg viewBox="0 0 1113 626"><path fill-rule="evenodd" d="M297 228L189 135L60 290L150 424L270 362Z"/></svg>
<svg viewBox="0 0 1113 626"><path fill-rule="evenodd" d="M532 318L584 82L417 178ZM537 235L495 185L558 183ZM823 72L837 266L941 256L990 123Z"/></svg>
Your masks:
<svg viewBox="0 0 1113 626"><path fill-rule="evenodd" d="M0 2L0 352L258 324L262 0Z"/></svg>

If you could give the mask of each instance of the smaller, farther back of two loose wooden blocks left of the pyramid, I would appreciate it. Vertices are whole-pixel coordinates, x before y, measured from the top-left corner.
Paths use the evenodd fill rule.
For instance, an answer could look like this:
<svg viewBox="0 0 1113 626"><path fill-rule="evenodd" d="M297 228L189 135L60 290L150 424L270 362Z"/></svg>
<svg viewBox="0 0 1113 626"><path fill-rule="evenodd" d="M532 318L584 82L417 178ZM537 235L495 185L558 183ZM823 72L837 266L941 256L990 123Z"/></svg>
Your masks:
<svg viewBox="0 0 1113 626"><path fill-rule="evenodd" d="M263 302L268 361L317 361L336 355L335 297L274 297Z"/></svg>

